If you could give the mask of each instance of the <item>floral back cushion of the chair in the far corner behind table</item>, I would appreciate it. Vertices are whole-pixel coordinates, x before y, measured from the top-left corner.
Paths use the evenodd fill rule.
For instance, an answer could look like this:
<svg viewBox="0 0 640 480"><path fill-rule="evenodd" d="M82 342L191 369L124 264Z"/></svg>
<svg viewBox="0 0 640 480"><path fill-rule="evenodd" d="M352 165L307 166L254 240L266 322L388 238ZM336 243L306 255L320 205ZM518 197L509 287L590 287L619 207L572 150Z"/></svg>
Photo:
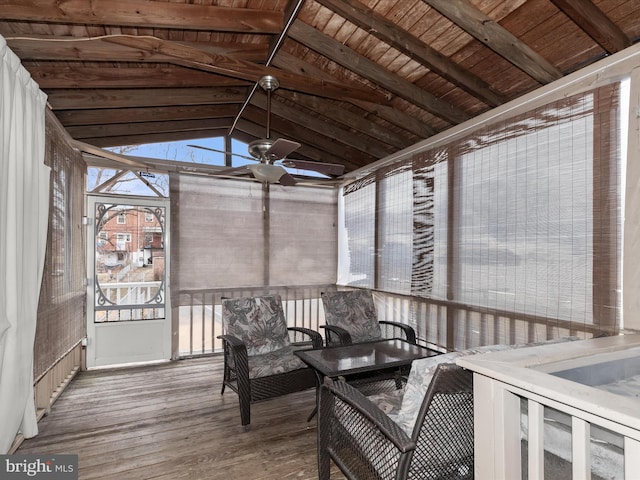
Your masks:
<svg viewBox="0 0 640 480"><path fill-rule="evenodd" d="M322 304L327 324L344 328L353 343L378 340L382 336L369 290L325 292Z"/></svg>

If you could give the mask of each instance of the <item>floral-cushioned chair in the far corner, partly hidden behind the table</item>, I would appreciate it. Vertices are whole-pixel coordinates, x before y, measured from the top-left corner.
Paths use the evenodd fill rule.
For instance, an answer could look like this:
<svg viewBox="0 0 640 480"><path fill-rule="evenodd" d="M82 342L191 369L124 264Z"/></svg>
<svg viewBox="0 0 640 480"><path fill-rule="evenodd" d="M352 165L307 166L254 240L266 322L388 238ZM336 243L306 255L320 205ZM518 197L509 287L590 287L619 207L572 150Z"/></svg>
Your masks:
<svg viewBox="0 0 640 480"><path fill-rule="evenodd" d="M399 322L378 320L370 290L346 290L321 294L326 325L326 346L350 345L386 338L404 338L416 343L412 327ZM387 335L383 335L383 330Z"/></svg>

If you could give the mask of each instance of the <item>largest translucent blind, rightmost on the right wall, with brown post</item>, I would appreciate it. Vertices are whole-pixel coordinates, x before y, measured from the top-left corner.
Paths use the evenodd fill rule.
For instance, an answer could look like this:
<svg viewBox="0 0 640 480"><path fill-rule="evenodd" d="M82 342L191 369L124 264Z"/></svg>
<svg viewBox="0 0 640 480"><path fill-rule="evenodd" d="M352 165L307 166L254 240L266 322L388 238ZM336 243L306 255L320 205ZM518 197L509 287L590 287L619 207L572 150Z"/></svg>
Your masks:
<svg viewBox="0 0 640 480"><path fill-rule="evenodd" d="M602 87L455 145L460 302L615 324L617 105L617 85Z"/></svg>

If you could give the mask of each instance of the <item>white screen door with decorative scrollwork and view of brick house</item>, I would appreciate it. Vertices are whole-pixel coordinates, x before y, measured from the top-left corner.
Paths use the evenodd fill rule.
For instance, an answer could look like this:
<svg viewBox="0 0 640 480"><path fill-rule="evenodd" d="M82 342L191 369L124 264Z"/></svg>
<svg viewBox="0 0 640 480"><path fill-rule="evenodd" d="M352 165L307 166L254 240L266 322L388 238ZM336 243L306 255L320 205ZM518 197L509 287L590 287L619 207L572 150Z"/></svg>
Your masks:
<svg viewBox="0 0 640 480"><path fill-rule="evenodd" d="M88 203L87 367L168 360L169 203L92 196Z"/></svg>

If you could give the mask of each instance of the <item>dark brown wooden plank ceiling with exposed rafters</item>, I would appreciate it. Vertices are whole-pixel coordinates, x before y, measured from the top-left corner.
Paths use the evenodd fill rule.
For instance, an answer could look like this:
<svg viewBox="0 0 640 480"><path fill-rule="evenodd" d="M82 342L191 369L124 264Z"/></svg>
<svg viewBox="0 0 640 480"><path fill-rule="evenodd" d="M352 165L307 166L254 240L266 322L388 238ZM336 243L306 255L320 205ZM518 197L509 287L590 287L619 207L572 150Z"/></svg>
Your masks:
<svg viewBox="0 0 640 480"><path fill-rule="evenodd" d="M0 34L82 142L269 123L351 171L630 46L640 0L0 0Z"/></svg>

